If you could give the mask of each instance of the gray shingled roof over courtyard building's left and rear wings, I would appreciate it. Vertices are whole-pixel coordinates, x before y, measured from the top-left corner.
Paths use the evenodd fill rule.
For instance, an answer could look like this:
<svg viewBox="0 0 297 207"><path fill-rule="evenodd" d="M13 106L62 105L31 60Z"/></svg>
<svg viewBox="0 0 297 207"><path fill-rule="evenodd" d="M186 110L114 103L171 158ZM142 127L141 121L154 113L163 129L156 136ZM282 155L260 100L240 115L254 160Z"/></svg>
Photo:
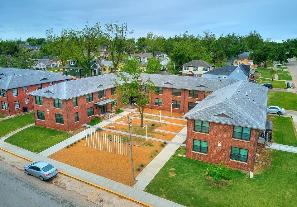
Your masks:
<svg viewBox="0 0 297 207"><path fill-rule="evenodd" d="M193 78L193 77L187 77L187 76L157 75L157 74L146 74L146 73L141 73L141 77L144 80L147 80L148 78L150 78L151 81L154 82L156 87L180 88L180 89L202 90L202 91L215 91L219 88L222 88L234 82L237 82L237 81L228 80L228 79ZM83 96L89 93L94 93L94 92L115 87L112 84L113 79L117 79L117 76L114 73L110 73L106 75L100 75L100 76L62 82L60 84L42 88L40 90L33 91L28 94L33 96L43 96L43 97L67 100L74 97ZM51 93L46 91L50 91Z"/></svg>

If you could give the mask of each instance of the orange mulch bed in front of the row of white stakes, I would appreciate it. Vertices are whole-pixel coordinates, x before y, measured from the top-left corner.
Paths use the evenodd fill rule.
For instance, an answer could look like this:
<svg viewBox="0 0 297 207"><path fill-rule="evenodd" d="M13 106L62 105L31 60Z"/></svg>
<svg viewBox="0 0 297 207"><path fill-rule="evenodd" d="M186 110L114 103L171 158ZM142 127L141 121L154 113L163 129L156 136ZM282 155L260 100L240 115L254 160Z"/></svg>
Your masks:
<svg viewBox="0 0 297 207"><path fill-rule="evenodd" d="M155 144L154 147L146 145L137 147L132 145L135 176L141 172L137 171L140 163L143 163L145 167L163 148L160 147L160 142L151 141ZM130 157L85 147L84 140L77 142L69 148L61 149L50 155L49 158L128 186L134 185Z"/></svg>

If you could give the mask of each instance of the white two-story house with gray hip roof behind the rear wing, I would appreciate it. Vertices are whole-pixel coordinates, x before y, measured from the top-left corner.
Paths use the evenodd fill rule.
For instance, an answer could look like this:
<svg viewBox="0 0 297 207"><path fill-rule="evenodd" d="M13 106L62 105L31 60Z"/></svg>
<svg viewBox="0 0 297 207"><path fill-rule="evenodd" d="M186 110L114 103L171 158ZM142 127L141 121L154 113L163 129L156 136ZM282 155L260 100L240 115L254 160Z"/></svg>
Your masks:
<svg viewBox="0 0 297 207"><path fill-rule="evenodd" d="M215 68L214 64L210 64L204 60L192 60L183 64L183 70L180 71L183 76L202 77L202 74Z"/></svg>

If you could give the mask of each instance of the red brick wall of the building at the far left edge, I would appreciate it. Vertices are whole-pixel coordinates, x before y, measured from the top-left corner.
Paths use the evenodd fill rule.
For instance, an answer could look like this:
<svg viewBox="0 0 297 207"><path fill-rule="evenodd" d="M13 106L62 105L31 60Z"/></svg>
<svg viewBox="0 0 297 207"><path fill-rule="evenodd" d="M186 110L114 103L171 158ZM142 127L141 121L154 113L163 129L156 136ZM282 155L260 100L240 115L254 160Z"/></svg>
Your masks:
<svg viewBox="0 0 297 207"><path fill-rule="evenodd" d="M70 80L70 79L69 79ZM64 82L63 80L61 82ZM57 82L54 82L54 84L57 84ZM42 83L42 88L50 86L50 83ZM3 110L2 107L0 106L0 114L5 114L5 115L14 115L23 112L23 106L28 107L28 111L33 109L32 106L32 99L31 96L27 95L27 93L35 91L38 89L38 85L32 85L32 86L27 86L27 91L24 91L23 87L17 88L18 96L13 96L12 89L7 90L6 92L6 97L0 97L0 102L4 101L7 103L7 110ZM7 102L7 97L8 97L8 102ZM29 103L25 102L25 99L29 99ZM15 109L14 102L19 101L19 109Z"/></svg>

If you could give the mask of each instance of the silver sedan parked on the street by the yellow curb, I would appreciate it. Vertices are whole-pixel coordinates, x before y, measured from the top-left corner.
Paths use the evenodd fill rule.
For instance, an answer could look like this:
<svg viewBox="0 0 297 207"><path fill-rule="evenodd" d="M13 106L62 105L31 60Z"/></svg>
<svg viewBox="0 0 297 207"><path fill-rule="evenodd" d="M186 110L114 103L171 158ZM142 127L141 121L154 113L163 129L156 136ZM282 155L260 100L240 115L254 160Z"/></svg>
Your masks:
<svg viewBox="0 0 297 207"><path fill-rule="evenodd" d="M31 162L24 167L27 175L39 177L41 181L48 180L58 174L58 169L43 161Z"/></svg>

